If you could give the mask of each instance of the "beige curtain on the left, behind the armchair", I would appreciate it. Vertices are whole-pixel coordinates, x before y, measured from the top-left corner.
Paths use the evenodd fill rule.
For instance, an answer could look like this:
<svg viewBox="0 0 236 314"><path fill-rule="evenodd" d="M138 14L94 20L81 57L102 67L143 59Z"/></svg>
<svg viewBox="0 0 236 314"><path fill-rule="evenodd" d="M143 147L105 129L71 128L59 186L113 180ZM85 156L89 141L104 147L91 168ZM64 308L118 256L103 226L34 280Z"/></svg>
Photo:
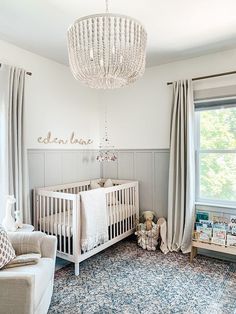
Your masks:
<svg viewBox="0 0 236 314"><path fill-rule="evenodd" d="M0 67L0 218L5 214L5 196L13 194L16 198L16 209L21 211L24 222L30 222L23 130L24 89L25 71L2 64Z"/></svg>

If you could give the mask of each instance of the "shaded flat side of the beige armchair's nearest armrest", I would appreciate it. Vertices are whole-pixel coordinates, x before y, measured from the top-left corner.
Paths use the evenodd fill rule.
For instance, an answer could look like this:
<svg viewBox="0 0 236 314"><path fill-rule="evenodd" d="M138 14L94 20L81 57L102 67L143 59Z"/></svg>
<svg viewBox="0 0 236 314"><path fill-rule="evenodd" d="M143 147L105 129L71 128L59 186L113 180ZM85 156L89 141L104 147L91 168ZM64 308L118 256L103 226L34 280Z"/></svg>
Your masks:
<svg viewBox="0 0 236 314"><path fill-rule="evenodd" d="M34 276L0 272L0 314L33 314Z"/></svg>

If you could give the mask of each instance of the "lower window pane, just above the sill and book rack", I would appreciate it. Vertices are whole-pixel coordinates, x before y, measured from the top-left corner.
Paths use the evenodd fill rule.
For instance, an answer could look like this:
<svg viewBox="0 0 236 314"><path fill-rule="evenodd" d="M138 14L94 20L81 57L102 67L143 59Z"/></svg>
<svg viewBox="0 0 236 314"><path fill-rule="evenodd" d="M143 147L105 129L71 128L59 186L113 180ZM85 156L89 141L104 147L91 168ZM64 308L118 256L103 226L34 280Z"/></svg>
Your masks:
<svg viewBox="0 0 236 314"><path fill-rule="evenodd" d="M200 198L236 201L236 153L200 153Z"/></svg>

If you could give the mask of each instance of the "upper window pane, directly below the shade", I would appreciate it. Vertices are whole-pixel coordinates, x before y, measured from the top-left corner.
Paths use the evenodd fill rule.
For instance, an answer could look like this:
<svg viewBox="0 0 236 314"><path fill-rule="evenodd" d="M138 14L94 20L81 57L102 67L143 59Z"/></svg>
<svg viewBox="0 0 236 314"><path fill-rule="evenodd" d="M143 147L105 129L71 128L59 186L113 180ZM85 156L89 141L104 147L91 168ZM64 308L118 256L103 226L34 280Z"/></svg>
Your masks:
<svg viewBox="0 0 236 314"><path fill-rule="evenodd" d="M236 107L201 111L201 149L236 149Z"/></svg>

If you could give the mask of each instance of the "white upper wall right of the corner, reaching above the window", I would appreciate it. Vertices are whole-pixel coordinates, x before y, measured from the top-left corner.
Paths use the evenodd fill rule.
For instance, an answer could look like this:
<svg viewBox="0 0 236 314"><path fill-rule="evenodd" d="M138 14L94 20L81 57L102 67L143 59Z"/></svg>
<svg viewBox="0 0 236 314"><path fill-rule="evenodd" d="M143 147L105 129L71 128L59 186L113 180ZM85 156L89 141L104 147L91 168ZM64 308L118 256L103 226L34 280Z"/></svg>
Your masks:
<svg viewBox="0 0 236 314"><path fill-rule="evenodd" d="M172 86L168 81L236 70L236 49L146 69L137 83L124 89L102 91L107 106L109 133L118 149L168 148ZM205 89L236 84L236 75L194 83ZM104 114L100 116L104 128Z"/></svg>

